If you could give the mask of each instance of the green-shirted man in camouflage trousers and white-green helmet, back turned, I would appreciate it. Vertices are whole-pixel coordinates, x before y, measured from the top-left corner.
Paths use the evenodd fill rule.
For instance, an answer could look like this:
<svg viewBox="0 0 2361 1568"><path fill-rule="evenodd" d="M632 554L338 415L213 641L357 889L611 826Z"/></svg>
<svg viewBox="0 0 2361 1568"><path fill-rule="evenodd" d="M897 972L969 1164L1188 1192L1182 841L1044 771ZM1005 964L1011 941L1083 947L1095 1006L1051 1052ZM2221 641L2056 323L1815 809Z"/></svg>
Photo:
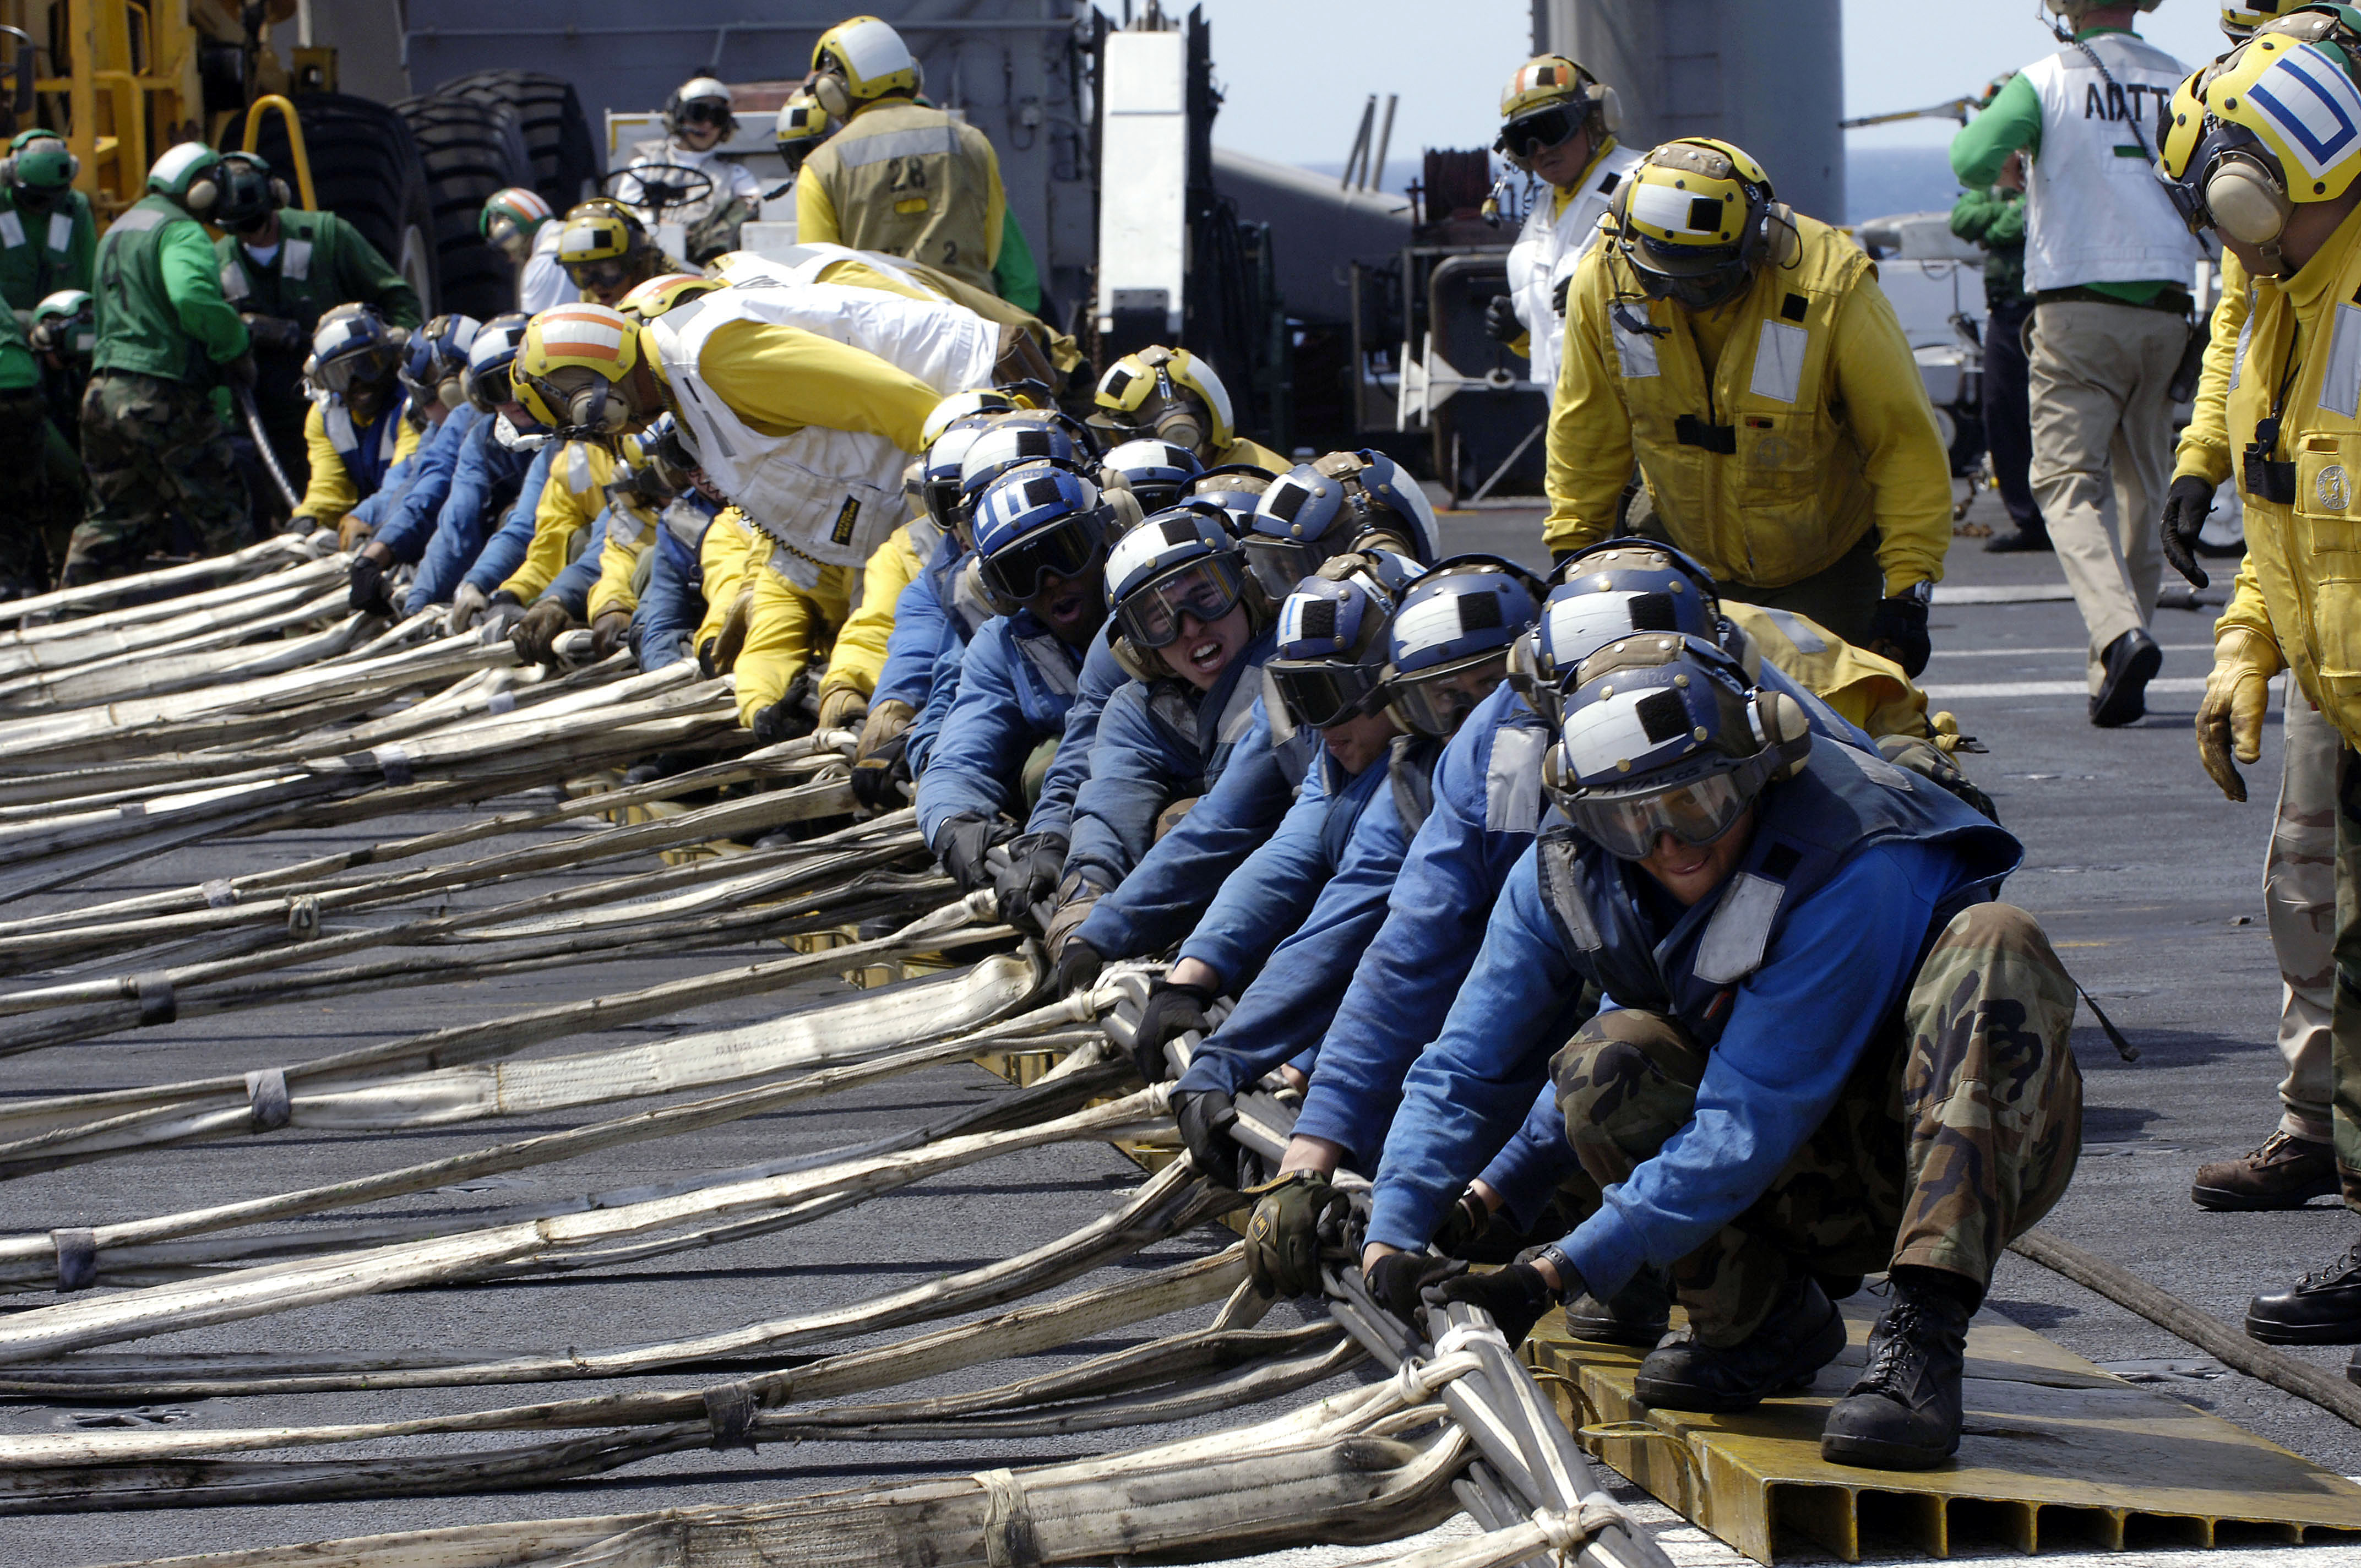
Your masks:
<svg viewBox="0 0 2361 1568"><path fill-rule="evenodd" d="M222 555L255 529L208 392L255 385L238 312L201 213L222 196L222 156L182 142L156 161L142 196L99 241L99 345L83 394L90 515L73 529L61 586L137 571L149 550ZM177 510L196 538L172 538Z"/></svg>

